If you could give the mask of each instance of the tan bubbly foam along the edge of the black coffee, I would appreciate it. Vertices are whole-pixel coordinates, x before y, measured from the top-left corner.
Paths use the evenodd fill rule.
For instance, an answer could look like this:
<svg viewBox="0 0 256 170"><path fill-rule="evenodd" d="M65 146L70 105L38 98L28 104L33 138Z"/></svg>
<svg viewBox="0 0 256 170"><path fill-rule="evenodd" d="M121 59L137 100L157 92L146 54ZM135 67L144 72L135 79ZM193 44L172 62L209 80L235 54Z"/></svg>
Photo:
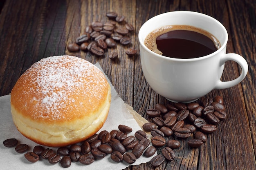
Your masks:
<svg viewBox="0 0 256 170"><path fill-rule="evenodd" d="M217 49L220 48L220 42L217 40L217 38L215 38L213 35L211 35L208 31L205 31L204 29L200 29L198 27L193 27L190 25L166 25L166 26L160 27L158 29L155 29L154 31L150 32L150 34L148 34L148 36L146 37L146 39L144 41L144 44L151 51L155 52L156 54L162 55L163 54L162 51L157 49L156 39L158 36L165 34L169 31L174 31L174 30L188 30L188 31L198 32L200 34L203 34L203 35L209 37L214 42Z"/></svg>

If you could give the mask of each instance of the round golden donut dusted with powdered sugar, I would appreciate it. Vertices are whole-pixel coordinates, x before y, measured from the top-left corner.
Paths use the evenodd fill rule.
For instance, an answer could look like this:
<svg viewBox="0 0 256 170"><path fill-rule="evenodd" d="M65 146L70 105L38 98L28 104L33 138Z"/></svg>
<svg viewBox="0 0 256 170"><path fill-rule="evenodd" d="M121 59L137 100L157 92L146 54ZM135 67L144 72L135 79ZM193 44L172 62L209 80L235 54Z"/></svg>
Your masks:
<svg viewBox="0 0 256 170"><path fill-rule="evenodd" d="M99 68L75 56L52 56L34 63L11 90L17 130L51 147L78 143L105 123L111 87Z"/></svg>

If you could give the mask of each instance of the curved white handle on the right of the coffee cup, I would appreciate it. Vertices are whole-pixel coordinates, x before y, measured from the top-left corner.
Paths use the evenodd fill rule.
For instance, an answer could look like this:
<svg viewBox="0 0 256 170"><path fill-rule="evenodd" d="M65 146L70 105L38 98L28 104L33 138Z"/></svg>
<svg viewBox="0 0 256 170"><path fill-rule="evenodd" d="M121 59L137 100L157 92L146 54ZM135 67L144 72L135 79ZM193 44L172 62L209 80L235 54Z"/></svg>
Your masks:
<svg viewBox="0 0 256 170"><path fill-rule="evenodd" d="M236 63L238 63L240 65L240 67L242 68L242 73L240 74L240 76L238 78L231 80L231 81L220 81L219 80L219 82L216 84L216 87L214 89L226 89L226 88L232 87L234 85L237 85L247 75L248 64L247 64L245 58L243 58L242 56L240 56L238 54L228 53L222 57L222 59L220 60L220 65L225 64L225 62L228 60L232 60L232 61L235 61Z"/></svg>

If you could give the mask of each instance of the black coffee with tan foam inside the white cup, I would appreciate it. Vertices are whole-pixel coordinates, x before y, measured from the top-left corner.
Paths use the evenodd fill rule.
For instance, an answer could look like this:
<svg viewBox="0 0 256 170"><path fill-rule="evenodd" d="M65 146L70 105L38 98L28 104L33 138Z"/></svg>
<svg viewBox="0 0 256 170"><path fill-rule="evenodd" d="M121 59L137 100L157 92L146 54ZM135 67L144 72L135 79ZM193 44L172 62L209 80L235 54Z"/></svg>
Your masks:
<svg viewBox="0 0 256 170"><path fill-rule="evenodd" d="M145 40L151 51L171 58L198 58L220 48L209 32L187 25L165 26L151 32Z"/></svg>

